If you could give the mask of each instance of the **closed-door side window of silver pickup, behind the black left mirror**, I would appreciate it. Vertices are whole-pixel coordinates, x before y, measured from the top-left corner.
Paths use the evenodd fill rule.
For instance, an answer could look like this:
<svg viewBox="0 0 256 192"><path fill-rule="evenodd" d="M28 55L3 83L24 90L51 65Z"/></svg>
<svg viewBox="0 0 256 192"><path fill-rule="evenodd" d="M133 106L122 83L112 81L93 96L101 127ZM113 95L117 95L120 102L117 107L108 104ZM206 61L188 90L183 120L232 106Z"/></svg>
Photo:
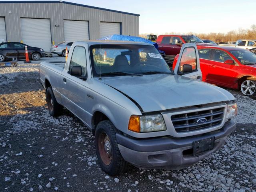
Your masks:
<svg viewBox="0 0 256 192"><path fill-rule="evenodd" d="M76 46L73 50L69 71L73 66L81 66L82 76L86 75L86 52L81 46Z"/></svg>

